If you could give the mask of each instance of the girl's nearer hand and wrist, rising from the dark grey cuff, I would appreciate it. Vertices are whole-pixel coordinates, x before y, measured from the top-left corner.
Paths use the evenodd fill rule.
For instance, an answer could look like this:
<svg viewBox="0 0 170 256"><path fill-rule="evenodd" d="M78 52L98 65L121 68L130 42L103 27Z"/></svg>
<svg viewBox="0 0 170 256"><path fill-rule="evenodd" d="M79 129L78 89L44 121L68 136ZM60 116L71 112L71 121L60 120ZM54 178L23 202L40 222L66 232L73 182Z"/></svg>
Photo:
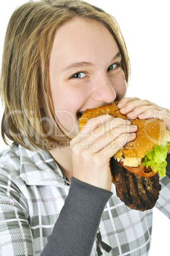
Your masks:
<svg viewBox="0 0 170 256"><path fill-rule="evenodd" d="M136 138L137 130L129 120L110 115L90 119L71 141L74 178L111 190L110 158Z"/></svg>

